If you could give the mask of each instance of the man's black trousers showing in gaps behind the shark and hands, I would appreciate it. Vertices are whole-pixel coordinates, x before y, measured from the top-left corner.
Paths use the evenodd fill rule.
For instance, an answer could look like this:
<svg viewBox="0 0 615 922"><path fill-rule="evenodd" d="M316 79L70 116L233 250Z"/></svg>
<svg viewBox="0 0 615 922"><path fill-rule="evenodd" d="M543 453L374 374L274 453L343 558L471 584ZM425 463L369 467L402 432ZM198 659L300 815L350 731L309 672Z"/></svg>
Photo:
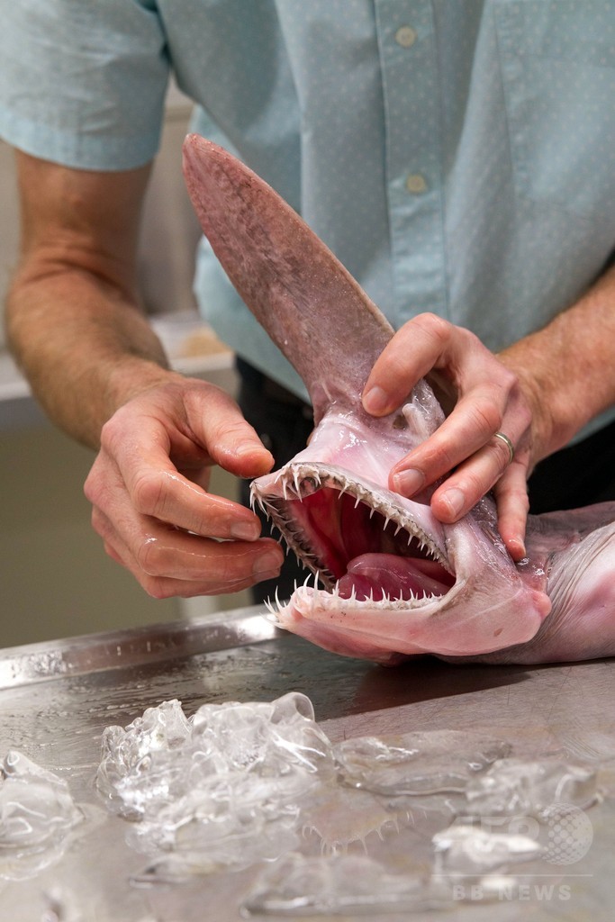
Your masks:
<svg viewBox="0 0 615 922"><path fill-rule="evenodd" d="M305 447L313 430L312 408L241 359L237 370L243 415L273 454L275 467L281 467ZM541 461L528 491L530 512L536 515L615 500L615 423ZM242 482L242 502L250 502L247 481ZM271 535L265 516L261 518L263 534ZM289 597L295 580L302 583L306 575L289 553L278 580L254 586L254 602L274 597L276 587L280 599Z"/></svg>

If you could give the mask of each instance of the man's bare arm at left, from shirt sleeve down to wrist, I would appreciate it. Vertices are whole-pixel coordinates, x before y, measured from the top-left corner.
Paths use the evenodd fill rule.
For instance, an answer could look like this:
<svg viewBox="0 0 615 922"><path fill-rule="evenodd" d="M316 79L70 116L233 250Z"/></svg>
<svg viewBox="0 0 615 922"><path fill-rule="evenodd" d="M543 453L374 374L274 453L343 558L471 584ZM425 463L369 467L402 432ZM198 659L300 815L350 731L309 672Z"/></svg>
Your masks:
<svg viewBox="0 0 615 922"><path fill-rule="evenodd" d="M150 167L78 171L20 151L16 163L21 248L6 303L9 344L51 419L98 447L118 407L172 374L137 306Z"/></svg>

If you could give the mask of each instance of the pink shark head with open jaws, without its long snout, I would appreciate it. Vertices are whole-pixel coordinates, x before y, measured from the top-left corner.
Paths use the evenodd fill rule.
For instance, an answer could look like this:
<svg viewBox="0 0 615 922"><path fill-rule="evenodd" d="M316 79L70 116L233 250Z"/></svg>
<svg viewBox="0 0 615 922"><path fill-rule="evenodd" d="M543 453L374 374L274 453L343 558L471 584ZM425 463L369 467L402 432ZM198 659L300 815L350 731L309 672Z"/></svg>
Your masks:
<svg viewBox="0 0 615 922"><path fill-rule="evenodd" d="M404 410L411 419L411 405ZM253 501L313 574L271 605L279 624L382 663L528 641L549 599L540 574L517 569L503 547L493 503L447 526L427 495L418 502L389 490L403 440L394 422L374 423L331 408L304 451L254 480Z"/></svg>

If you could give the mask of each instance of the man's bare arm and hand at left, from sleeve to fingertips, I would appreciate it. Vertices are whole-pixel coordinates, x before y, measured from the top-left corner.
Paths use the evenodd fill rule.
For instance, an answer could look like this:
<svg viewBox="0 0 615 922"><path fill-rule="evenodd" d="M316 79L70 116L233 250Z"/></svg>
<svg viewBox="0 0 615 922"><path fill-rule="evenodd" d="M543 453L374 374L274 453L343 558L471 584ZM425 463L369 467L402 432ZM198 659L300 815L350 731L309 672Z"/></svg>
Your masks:
<svg viewBox="0 0 615 922"><path fill-rule="evenodd" d="M139 310L136 252L149 166L71 170L17 155L21 253L11 347L50 418L99 452L86 493L109 554L154 597L240 590L283 553L256 515L207 492L273 458L231 399L172 372Z"/></svg>

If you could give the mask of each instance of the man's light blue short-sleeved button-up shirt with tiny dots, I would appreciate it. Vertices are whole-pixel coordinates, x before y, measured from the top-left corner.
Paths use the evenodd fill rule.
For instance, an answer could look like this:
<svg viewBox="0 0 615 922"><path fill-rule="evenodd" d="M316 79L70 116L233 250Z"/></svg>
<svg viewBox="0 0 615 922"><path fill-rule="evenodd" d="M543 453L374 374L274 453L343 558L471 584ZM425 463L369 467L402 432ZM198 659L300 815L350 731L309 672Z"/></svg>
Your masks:
<svg viewBox="0 0 615 922"><path fill-rule="evenodd" d="M0 134L97 170L155 155L172 70L396 327L430 310L503 349L615 246L611 0L18 0L0 61ZM302 393L207 245L196 290Z"/></svg>

